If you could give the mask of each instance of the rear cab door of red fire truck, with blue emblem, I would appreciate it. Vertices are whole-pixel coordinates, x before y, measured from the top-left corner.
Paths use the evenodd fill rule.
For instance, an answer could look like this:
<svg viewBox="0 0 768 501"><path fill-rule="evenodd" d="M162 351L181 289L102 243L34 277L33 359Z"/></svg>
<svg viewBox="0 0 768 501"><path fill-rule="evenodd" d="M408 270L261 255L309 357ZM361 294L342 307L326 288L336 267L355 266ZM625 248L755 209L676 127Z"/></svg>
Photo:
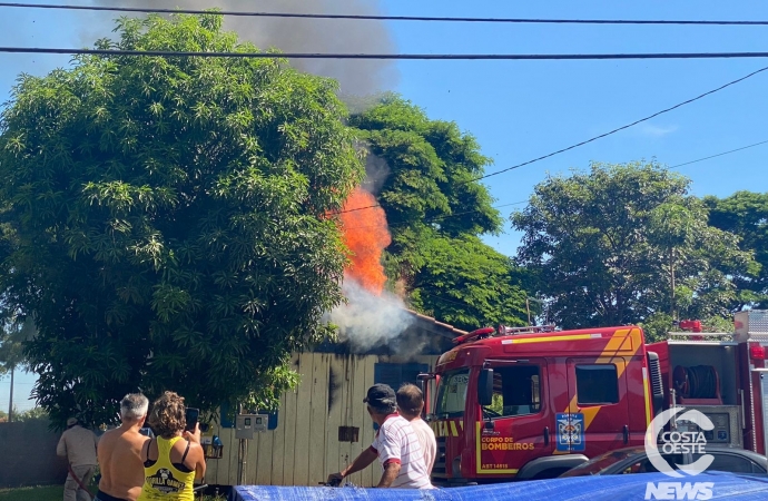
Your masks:
<svg viewBox="0 0 768 501"><path fill-rule="evenodd" d="M568 360L569 406L559 411L558 452L588 458L629 445L627 361Z"/></svg>

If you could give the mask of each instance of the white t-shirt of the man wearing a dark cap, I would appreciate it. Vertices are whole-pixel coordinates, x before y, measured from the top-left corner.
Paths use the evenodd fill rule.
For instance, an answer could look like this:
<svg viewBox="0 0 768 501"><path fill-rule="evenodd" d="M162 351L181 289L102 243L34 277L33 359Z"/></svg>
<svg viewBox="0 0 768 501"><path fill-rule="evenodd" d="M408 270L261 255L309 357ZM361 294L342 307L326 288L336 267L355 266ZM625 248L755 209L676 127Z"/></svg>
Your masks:
<svg viewBox="0 0 768 501"><path fill-rule="evenodd" d="M391 488L434 489L419 436L405 418L398 414L388 415L376 432L371 449L378 455L382 473L388 463L400 463L400 473Z"/></svg>

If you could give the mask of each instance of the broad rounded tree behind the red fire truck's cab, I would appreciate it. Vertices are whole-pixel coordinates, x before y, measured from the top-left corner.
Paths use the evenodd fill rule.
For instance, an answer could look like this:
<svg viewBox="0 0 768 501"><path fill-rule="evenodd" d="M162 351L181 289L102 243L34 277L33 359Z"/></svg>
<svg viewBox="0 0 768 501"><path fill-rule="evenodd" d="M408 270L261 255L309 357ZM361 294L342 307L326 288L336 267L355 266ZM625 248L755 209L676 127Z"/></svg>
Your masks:
<svg viewBox="0 0 768 501"><path fill-rule="evenodd" d="M538 276L562 327L705 321L729 315L729 274L752 261L738 237L708 225L690 180L656 164L592 164L549 177L512 215L520 264ZM664 321L666 322L666 321ZM671 325L668 325L668 328Z"/></svg>

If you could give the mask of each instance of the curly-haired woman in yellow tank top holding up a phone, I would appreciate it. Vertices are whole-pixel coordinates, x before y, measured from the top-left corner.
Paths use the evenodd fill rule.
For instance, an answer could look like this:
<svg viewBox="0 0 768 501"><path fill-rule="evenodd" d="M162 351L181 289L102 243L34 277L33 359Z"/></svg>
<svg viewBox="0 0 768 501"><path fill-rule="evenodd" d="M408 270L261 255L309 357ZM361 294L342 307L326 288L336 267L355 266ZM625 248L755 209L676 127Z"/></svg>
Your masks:
<svg viewBox="0 0 768 501"><path fill-rule="evenodd" d="M194 501L195 478L203 479L206 464L200 426L185 432L185 414L184 399L173 392L152 404L149 425L157 439L145 445L145 480L137 501Z"/></svg>

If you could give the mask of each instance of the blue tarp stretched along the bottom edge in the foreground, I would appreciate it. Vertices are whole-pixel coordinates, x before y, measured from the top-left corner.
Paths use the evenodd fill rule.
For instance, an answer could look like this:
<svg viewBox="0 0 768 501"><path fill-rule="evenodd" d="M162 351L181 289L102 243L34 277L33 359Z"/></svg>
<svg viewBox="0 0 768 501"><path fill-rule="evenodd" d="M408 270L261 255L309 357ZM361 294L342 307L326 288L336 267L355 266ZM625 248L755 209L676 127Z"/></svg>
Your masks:
<svg viewBox="0 0 768 501"><path fill-rule="evenodd" d="M238 485L229 494L229 501L501 501L510 499L552 499L580 501L644 500L647 485L653 482L677 482L663 473L637 473L604 477L573 477L565 479L510 482L494 485L473 485L450 489L362 489L353 487L272 487ZM683 480L691 487L711 482L711 497L706 492L678 497L673 488L666 499L768 499L768 475L749 475L706 472ZM649 499L664 499L660 498Z"/></svg>

